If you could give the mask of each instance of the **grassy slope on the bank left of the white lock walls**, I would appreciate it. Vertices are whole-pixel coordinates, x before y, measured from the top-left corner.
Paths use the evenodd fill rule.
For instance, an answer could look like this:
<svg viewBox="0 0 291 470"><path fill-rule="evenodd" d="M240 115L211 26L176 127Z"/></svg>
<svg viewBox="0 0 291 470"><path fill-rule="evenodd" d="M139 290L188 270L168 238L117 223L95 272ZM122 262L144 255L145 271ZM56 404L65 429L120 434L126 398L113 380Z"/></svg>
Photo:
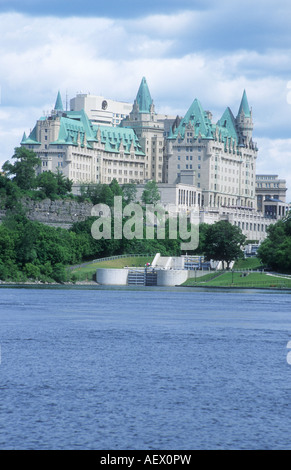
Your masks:
<svg viewBox="0 0 291 470"><path fill-rule="evenodd" d="M75 281L92 281L95 278L96 269L107 268L107 269L122 269L128 267L141 267L146 263L151 263L153 257L149 256L136 256L128 258L119 258L108 261L100 261L98 263L91 263L86 266L78 267L70 271L70 274Z"/></svg>

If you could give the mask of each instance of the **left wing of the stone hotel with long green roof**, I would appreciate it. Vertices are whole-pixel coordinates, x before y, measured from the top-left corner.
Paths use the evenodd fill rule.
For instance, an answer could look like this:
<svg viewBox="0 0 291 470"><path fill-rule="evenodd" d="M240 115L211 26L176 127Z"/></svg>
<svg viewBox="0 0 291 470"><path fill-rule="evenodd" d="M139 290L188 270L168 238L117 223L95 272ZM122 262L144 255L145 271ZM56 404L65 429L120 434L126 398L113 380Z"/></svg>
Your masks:
<svg viewBox="0 0 291 470"><path fill-rule="evenodd" d="M84 110L64 112L59 99L21 145L40 158L38 173L60 171L74 183L145 179L145 154L133 129L94 125Z"/></svg>

